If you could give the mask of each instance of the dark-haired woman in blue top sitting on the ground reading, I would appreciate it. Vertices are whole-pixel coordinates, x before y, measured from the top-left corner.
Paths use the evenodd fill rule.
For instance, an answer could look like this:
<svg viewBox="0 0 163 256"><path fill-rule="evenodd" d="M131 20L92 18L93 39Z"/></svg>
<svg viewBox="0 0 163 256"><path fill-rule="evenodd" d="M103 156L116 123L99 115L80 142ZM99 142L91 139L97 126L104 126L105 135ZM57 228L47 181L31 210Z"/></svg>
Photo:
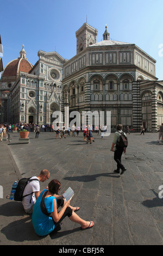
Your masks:
<svg viewBox="0 0 163 256"><path fill-rule="evenodd" d="M51 233L53 230L55 231L55 229L57 230L59 223L66 216L68 216L71 221L79 223L82 230L92 228L94 225L93 221L84 221L74 212L79 210L79 208L72 207L70 200L65 202L61 199L62 196L58 196L60 186L61 184L58 180L52 180L48 184L48 190L43 190L36 200L32 214L32 223L37 235L44 236ZM46 196L44 193L46 193ZM47 212L52 214L52 216L43 214L41 210L41 199L43 195L45 196L44 203ZM63 205L61 205L61 201L63 201ZM58 212L57 209L59 206L62 206L62 209Z"/></svg>

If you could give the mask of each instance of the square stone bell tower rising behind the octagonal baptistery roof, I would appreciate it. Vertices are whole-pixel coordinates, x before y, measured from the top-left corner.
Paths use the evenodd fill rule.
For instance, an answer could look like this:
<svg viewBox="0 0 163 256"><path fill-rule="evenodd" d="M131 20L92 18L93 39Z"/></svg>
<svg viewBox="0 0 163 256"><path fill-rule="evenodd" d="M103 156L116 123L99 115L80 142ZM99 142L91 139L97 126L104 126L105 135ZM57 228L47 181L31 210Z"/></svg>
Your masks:
<svg viewBox="0 0 163 256"><path fill-rule="evenodd" d="M81 28L76 32L77 38L77 54L83 51L89 45L96 44L97 42L96 28L91 27L88 23L84 23Z"/></svg>

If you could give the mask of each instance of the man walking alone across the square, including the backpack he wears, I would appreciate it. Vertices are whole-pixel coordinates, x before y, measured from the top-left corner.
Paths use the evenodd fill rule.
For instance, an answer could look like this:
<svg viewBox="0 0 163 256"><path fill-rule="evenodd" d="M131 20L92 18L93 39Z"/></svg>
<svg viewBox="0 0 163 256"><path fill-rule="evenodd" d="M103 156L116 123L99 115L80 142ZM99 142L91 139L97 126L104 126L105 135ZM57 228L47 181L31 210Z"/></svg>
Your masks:
<svg viewBox="0 0 163 256"><path fill-rule="evenodd" d="M126 148L128 145L126 133L124 133L122 129L123 129L123 126L121 124L118 124L116 126L117 131L114 134L114 139L111 146L111 151L114 151L114 147L116 147L114 151L114 160L117 163L117 169L114 170L114 172L120 173L120 169L121 169L122 170L121 175L124 173L125 170L127 170L121 163L121 156L123 152L126 153Z"/></svg>

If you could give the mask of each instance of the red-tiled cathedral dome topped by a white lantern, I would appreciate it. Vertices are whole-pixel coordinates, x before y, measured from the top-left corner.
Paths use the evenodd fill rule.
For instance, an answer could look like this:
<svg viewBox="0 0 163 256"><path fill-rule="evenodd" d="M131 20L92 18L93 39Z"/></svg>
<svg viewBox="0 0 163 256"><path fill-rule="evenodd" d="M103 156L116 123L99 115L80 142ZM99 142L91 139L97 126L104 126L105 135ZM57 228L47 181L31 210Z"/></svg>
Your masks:
<svg viewBox="0 0 163 256"><path fill-rule="evenodd" d="M20 72L28 73L33 68L33 65L30 62L28 62L26 58L26 52L24 51L24 46L20 54L21 54L21 57L11 60L11 62L9 62L5 66L2 74L2 82L5 82L5 80L7 80L9 77L10 77L10 81L16 81Z"/></svg>

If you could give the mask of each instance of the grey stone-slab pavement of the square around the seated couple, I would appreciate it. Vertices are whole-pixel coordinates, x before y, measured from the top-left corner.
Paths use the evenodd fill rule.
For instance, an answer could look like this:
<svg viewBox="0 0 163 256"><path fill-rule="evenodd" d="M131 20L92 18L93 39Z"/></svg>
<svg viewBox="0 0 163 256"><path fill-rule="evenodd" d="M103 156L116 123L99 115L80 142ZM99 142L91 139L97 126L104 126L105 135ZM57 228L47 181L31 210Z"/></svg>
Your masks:
<svg viewBox="0 0 163 256"><path fill-rule="evenodd" d="M104 139L93 136L95 142L86 144L82 132L66 139L55 139L51 132L36 139L30 132L30 143L18 144L19 134L12 133L11 143L0 142L0 245L163 245L163 143L156 143L158 133L128 135L123 175L113 172L114 133ZM61 181L61 192L72 187L72 205L80 207L80 217L95 222L92 229L82 231L65 218L57 234L39 237L22 203L8 199L15 180L39 175L45 168L51 173L49 181ZM47 185L41 183L41 189Z"/></svg>

